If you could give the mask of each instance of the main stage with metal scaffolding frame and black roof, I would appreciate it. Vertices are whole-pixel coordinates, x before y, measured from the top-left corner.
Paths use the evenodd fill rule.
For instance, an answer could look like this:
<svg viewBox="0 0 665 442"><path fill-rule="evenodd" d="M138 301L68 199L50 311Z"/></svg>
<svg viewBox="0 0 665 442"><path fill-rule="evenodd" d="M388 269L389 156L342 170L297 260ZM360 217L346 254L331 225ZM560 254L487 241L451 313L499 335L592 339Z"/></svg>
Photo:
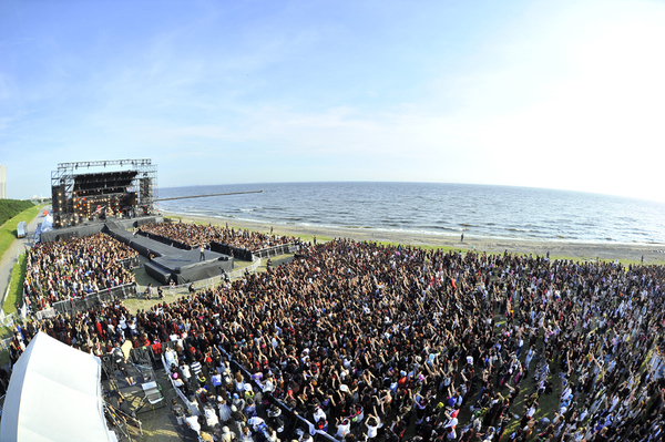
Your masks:
<svg viewBox="0 0 665 442"><path fill-rule="evenodd" d="M130 216L152 215L157 209L157 165L149 158L58 163L51 193L55 227L119 215L121 209Z"/></svg>

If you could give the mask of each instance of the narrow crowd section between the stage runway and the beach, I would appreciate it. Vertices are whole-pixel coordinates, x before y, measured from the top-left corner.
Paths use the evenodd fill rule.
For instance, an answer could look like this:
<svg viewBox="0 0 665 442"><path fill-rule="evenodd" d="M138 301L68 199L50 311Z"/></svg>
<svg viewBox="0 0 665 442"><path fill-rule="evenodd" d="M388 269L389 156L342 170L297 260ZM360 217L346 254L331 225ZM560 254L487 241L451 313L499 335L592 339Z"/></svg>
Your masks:
<svg viewBox="0 0 665 442"><path fill-rule="evenodd" d="M140 230L160 235L164 238L181 241L190 247L208 245L212 241L225 244L229 247L249 251L278 246L282 244L296 243L293 236L263 234L254 230L236 229L226 226L213 226L194 223L158 223L147 224Z"/></svg>

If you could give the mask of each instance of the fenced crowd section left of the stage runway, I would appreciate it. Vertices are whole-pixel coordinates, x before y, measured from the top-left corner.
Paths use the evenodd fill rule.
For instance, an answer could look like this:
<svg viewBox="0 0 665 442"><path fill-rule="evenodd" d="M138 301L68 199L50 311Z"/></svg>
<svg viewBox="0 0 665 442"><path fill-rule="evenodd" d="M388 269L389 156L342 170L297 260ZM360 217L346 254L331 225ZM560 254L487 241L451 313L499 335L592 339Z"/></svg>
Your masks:
<svg viewBox="0 0 665 442"><path fill-rule="evenodd" d="M38 311L57 301L132 284L132 270L119 261L137 255L105 234L35 244L28 251L24 304Z"/></svg>

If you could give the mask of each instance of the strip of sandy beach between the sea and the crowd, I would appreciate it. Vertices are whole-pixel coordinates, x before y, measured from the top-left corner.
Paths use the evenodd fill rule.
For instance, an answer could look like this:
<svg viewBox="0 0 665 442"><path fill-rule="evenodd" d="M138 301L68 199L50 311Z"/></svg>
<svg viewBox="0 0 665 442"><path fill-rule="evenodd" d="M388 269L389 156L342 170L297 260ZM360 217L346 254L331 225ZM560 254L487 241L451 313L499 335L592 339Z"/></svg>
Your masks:
<svg viewBox="0 0 665 442"><path fill-rule="evenodd" d="M231 227L246 228L256 232L268 232L270 226L277 235L298 236L310 238L350 238L355 240L367 240L378 243L395 243L410 246L431 246L450 247L462 251L474 249L488 254L533 254L546 256L550 253L552 258L573 258L573 259L603 259L603 260L627 260L640 263L644 256L644 264L665 264L665 245L631 245L631 244L597 244L597 243L566 243L530 239L508 239L508 238L474 238L464 237L460 241L459 236L440 236L428 234L416 234L407 232L385 232L385 230L365 230L344 227L316 227L316 226L296 226L286 224L268 224L259 222L239 220L237 218L222 218L214 216L193 216L187 214L177 214L174 212L161 212L165 217L178 217L183 222L197 222L213 225L226 225Z"/></svg>

